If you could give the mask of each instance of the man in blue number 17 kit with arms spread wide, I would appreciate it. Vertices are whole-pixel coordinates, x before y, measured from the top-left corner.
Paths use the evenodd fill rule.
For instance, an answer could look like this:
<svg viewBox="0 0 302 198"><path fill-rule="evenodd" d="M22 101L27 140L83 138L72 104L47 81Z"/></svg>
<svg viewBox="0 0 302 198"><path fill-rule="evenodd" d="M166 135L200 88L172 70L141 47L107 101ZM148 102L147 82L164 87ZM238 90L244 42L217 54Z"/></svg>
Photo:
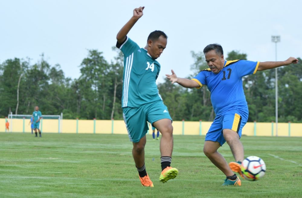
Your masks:
<svg viewBox="0 0 302 198"><path fill-rule="evenodd" d="M226 175L223 185L241 186L241 181L234 172L242 176L240 165L244 153L239 139L249 116L242 77L255 74L257 71L296 64L298 59L289 57L285 61L226 61L223 49L218 44L207 45L203 52L209 68L199 72L193 79L178 78L173 70L171 75L166 76L172 83L177 82L185 88L207 86L216 117L205 137L204 154ZM217 152L225 142L229 144L236 162L228 164Z"/></svg>

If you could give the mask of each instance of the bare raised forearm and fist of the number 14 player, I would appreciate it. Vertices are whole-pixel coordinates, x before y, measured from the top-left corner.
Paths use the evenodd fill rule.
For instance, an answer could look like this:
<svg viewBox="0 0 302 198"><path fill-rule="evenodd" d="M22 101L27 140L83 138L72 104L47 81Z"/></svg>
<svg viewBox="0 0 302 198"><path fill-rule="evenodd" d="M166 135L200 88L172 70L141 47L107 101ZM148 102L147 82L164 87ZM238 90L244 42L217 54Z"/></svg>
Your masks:
<svg viewBox="0 0 302 198"><path fill-rule="evenodd" d="M118 43L122 43L125 41L126 36L130 29L134 26L134 24L139 20L140 17L143 16L143 9L145 7L139 7L135 8L133 10L133 16L131 19L120 29L120 31L117 33L116 39Z"/></svg>

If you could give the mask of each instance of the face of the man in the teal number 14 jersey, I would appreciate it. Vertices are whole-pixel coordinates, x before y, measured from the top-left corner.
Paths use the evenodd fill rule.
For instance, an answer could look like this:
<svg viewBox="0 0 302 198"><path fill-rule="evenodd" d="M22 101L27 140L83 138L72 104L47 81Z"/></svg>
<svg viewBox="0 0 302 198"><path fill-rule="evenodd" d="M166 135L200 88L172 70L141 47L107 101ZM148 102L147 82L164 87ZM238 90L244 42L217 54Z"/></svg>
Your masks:
<svg viewBox="0 0 302 198"><path fill-rule="evenodd" d="M160 56L160 54L162 54L162 51L164 51L166 45L167 39L163 36L159 36L159 38L155 41L148 40L148 53L153 59L156 59Z"/></svg>

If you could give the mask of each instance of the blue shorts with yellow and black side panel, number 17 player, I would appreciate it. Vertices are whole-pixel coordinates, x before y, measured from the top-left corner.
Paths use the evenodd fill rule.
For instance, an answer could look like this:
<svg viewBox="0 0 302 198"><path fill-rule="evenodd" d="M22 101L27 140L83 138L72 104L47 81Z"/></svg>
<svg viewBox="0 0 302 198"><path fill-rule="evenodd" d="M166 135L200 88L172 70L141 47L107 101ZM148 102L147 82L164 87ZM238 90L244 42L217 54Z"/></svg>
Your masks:
<svg viewBox="0 0 302 198"><path fill-rule="evenodd" d="M216 116L207 132L205 141L219 142L222 146L226 142L222 133L223 129L231 129L241 138L242 128L246 124L248 116L248 113L240 113L235 110Z"/></svg>

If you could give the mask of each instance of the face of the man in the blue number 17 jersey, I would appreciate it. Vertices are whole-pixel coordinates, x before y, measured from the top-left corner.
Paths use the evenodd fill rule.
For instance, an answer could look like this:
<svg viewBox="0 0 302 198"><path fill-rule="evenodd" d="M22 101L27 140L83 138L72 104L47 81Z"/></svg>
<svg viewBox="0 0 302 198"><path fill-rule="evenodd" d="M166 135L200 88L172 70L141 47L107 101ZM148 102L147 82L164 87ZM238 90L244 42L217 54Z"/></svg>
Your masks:
<svg viewBox="0 0 302 198"><path fill-rule="evenodd" d="M223 55L219 55L215 50L208 51L204 54L207 64L213 73L219 73L224 65Z"/></svg>

